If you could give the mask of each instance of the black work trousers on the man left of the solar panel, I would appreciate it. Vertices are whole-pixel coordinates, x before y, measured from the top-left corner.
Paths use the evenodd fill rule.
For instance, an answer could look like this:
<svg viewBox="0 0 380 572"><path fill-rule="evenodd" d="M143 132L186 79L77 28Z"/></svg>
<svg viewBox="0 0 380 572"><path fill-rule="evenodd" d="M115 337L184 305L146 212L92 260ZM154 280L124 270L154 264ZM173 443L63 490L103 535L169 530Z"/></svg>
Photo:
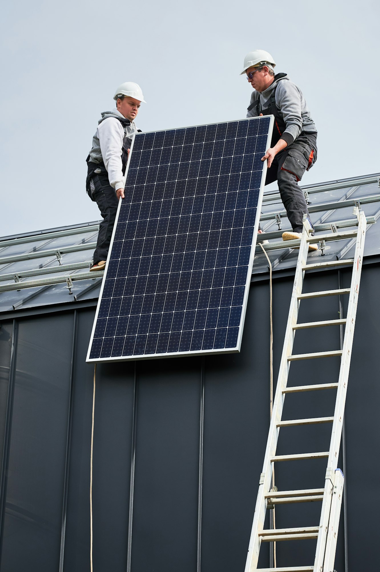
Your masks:
<svg viewBox="0 0 380 572"><path fill-rule="evenodd" d="M92 190L92 198L99 206L102 222L99 225L98 241L94 252L94 264L100 260L107 260L108 250L110 249L112 231L118 210L118 199L116 198L115 189L112 188L108 181L108 176L100 174L92 177L95 189Z"/></svg>

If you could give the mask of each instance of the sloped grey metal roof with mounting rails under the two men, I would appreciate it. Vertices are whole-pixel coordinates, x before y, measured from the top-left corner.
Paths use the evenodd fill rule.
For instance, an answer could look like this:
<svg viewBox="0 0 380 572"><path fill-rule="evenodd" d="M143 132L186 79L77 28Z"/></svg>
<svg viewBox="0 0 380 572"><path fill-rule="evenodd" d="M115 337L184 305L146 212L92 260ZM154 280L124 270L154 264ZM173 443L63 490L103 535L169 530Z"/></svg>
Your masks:
<svg viewBox="0 0 380 572"><path fill-rule="evenodd" d="M380 173L374 173L362 177L352 177L336 181L328 181L325 183L304 185L302 189L309 193L308 200L310 208L326 203L335 203L344 200L357 200L361 197L380 194L379 179ZM375 219L380 217L380 202L367 202L361 205L367 217L374 216ZM280 195L277 190L267 191L264 194L264 202L262 203L262 215L268 213L282 212ZM344 208L327 208L326 210L318 210L311 213L313 224L336 223L343 220L353 219L353 206L345 206ZM34 271L31 277L19 277L22 281L41 280L53 276L70 276L79 272L86 272L86 265L80 263L89 263L92 259L94 247L88 248L89 244L96 242L99 221L91 223L83 223L80 225L71 225L69 227L50 228L42 231L23 233L21 235L0 237L0 289L2 285L14 284L14 277L5 275L15 275L19 272ZM286 216L281 217L282 231L290 228L289 221ZM276 220L269 219L261 222L261 228L265 232L278 231ZM326 232L326 231L325 231ZM330 232L330 231L327 231ZM270 239L270 242L281 240ZM352 239L339 240L329 242L324 251L323 260L337 260L342 256L349 257L353 253ZM59 271L59 261L55 255L56 250L64 248L74 249L73 252L61 252L61 265L74 264L79 265L78 268L65 269ZM44 251L50 251L44 254ZM41 256L38 253L41 252ZM31 253L31 256L37 256L27 260L17 260L17 256L25 257ZM35 253L35 254L34 254ZM296 249L283 248L276 251L268 251L269 259L272 263L274 271L291 270L296 266L298 251ZM380 255L380 225L370 224L367 228L367 237L365 244L365 256ZM6 257L16 257L11 261L3 261ZM312 259L321 259L321 250L310 254ZM39 274L39 269L47 273ZM51 270L51 271L50 271ZM268 273L268 262L264 253L256 251L253 263L253 274L265 275ZM12 291L0 291L0 313L13 311L13 309L43 307L52 304L72 303L76 299L92 300L99 296L101 279L84 279L74 281L71 292L67 288L67 284L38 285L33 288L24 288Z"/></svg>

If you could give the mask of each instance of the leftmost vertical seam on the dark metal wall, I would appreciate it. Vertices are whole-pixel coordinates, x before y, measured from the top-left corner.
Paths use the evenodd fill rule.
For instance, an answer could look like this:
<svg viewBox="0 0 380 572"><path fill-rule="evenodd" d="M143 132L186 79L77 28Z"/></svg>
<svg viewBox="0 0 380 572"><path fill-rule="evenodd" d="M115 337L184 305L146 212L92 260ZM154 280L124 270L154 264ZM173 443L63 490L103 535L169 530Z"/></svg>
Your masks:
<svg viewBox="0 0 380 572"><path fill-rule="evenodd" d="M11 357L9 362L7 409L5 415L4 447L3 447L3 459L2 459L1 482L0 482L0 567L1 567L2 548L3 548L5 498L6 498L6 488L7 488L7 470L9 464L9 445L10 445L10 432L11 432L10 429L12 424L12 411L13 411L14 371L15 371L17 338L18 338L18 322L17 320L13 320L12 348L11 348Z"/></svg>

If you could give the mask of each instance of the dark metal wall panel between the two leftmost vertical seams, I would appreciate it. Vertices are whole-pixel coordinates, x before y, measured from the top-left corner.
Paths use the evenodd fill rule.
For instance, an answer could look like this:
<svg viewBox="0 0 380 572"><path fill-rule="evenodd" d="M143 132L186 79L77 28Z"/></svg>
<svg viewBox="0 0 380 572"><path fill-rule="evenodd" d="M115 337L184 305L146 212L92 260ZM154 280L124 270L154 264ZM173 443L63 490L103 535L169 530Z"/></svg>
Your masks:
<svg viewBox="0 0 380 572"><path fill-rule="evenodd" d="M59 566L72 315L17 325L2 569ZM21 550L22 547L22 550Z"/></svg>

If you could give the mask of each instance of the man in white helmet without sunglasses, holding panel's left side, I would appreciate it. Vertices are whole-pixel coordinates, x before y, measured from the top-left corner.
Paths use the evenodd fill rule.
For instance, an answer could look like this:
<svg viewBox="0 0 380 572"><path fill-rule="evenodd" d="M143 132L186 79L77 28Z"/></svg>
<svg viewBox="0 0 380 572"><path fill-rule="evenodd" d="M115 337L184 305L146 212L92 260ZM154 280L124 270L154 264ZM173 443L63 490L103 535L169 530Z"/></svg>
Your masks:
<svg viewBox="0 0 380 572"><path fill-rule="evenodd" d="M91 271L102 270L106 265L118 201L124 198L124 175L132 136L140 131L135 119L141 102L145 103L140 86L132 81L116 89L114 100L116 109L102 113L86 159L86 190L103 217Z"/></svg>

